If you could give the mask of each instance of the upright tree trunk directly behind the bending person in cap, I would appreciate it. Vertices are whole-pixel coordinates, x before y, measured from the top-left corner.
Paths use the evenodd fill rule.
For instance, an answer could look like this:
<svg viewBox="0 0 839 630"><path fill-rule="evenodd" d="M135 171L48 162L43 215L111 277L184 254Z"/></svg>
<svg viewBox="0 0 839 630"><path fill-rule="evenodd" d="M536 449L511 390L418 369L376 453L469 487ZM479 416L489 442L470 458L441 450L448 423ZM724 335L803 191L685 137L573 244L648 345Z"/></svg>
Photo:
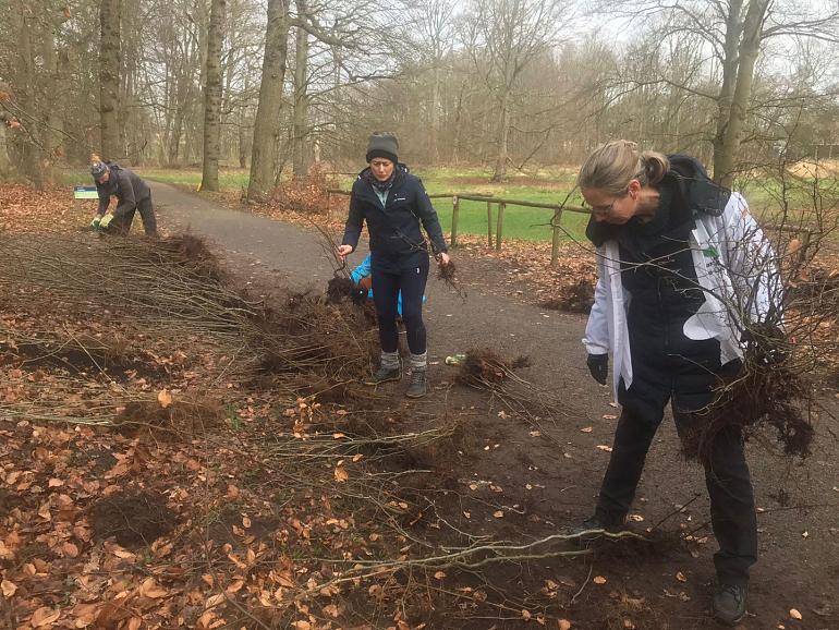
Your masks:
<svg viewBox="0 0 839 630"><path fill-rule="evenodd" d="M121 0L101 0L99 24L99 120L101 125L100 155L104 159L117 159L120 155L120 10Z"/></svg>

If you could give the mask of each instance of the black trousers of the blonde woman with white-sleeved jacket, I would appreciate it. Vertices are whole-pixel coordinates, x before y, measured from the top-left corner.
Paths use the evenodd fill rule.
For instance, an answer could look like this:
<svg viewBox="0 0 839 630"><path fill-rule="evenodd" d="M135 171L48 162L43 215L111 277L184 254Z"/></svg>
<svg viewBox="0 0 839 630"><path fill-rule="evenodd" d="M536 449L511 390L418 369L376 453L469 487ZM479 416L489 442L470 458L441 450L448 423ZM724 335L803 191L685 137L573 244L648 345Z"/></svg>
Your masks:
<svg viewBox="0 0 839 630"><path fill-rule="evenodd" d="M676 412L673 415L679 436L684 438L691 416ZM596 516L601 522L618 523L627 516L657 428L657 422L623 408L597 501ZM710 460L705 464L705 484L710 497L710 522L719 544L719 552L714 555L717 576L724 583L744 584L749 581L749 567L757 560L757 524L739 429L717 434Z"/></svg>

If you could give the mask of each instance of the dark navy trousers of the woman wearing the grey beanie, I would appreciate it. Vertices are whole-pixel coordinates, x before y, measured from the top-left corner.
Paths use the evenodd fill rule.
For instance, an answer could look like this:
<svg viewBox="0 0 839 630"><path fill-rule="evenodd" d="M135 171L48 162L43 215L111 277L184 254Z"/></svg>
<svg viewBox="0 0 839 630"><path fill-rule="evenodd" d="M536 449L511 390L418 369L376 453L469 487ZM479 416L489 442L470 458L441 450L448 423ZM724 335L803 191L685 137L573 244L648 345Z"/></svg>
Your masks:
<svg viewBox="0 0 839 630"><path fill-rule="evenodd" d="M396 352L399 347L397 302L402 291L402 322L405 324L408 348L411 354L424 354L423 293L428 280L428 257L421 257L414 267L392 270L378 268L374 261L372 276L381 351Z"/></svg>

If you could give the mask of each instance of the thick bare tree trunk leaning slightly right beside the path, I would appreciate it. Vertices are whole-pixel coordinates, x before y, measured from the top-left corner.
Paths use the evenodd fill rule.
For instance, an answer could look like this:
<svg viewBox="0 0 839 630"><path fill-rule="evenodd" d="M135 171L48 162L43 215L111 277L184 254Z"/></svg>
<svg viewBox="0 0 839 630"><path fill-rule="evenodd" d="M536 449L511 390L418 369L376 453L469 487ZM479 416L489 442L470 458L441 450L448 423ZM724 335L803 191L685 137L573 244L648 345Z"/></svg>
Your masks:
<svg viewBox="0 0 839 630"><path fill-rule="evenodd" d="M247 199L251 202L265 201L275 183L280 144L282 85L289 45L289 1L268 0L263 81L254 121L251 179L247 184Z"/></svg>

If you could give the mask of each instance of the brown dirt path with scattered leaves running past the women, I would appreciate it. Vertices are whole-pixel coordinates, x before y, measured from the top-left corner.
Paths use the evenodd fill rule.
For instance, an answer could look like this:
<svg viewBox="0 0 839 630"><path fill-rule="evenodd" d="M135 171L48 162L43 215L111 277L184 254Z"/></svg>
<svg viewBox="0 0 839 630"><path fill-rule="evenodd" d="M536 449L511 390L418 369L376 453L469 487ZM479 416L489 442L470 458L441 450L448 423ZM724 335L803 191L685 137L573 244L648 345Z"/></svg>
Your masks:
<svg viewBox="0 0 839 630"><path fill-rule="evenodd" d="M227 210L166 184L153 189L165 229L190 228L215 241L238 271L260 287L269 278L268 284L278 288L323 290L332 275L314 231ZM350 264L361 258L355 254ZM608 452L597 447L611 444L618 410L609 405L608 389L597 387L585 368L580 343L583 316L545 312L490 294L481 289L494 276L486 261L462 258L457 252L454 259L469 284L465 302L437 280L429 281L427 291L435 389L427 399L408 403L401 397L403 386L393 386L393 407L415 415L457 408L473 419L469 448L436 462L440 502L455 525L513 541L548 535L591 512L608 460ZM534 424L507 412L499 415L504 410L497 401L488 404L485 396L450 388L453 372L443 365L443 358L474 347L528 355L533 366L520 375L557 396L561 403L556 420ZM839 414L832 393L825 396L834 420L822 414L819 446L803 465L788 468L786 460L756 445L749 449L757 505L764 511L758 514L762 557L750 595L755 616L744 627L839 627L839 458L832 437L839 433L835 420ZM639 497L634 508L643 518L639 526L670 516L661 530L672 544L662 542L652 553L606 549L585 561L531 562L498 570L490 580L499 591L535 592L545 579L564 583L562 577L572 584L568 586L572 593L581 590L568 615L575 628L617 628L623 619L632 619L637 628L714 627L705 617L716 544L713 537L702 541L709 534L703 528L708 520L704 480L697 465L678 455L670 421L665 421L649 453ZM689 502L679 512L677 506ZM504 513L501 519L493 516L499 509ZM684 530L695 530L698 542L693 546L680 542L678 534ZM586 584L588 576L598 574L607 578L606 585ZM643 609L633 610L622 594L643 598ZM803 621L792 621L790 608L800 610ZM503 627L520 625L511 620ZM487 621L475 627L490 626Z"/></svg>

